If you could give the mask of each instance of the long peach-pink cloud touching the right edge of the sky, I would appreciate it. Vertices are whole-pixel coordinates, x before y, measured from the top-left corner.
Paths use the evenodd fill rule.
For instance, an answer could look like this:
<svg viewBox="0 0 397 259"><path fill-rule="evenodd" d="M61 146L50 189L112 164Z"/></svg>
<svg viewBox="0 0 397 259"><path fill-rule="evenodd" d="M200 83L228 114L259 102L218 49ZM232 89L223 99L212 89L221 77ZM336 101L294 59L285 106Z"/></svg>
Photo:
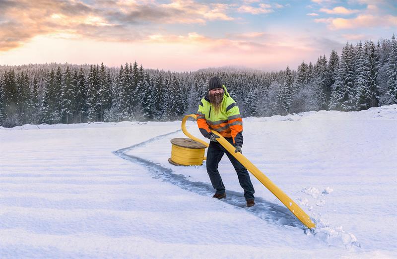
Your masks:
<svg viewBox="0 0 397 259"><path fill-rule="evenodd" d="M340 29L356 29L356 28L370 28L370 27L395 27L397 24L397 16L384 15L379 17L372 14L360 14L355 18L320 18L315 19L315 22L322 22L328 24L331 30Z"/></svg>

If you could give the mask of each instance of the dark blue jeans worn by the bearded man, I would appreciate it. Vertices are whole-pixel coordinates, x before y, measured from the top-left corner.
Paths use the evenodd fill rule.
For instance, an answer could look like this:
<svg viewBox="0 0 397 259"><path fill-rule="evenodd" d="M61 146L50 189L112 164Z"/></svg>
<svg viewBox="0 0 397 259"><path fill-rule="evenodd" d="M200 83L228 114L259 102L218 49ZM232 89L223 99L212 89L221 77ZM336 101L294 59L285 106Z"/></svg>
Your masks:
<svg viewBox="0 0 397 259"><path fill-rule="evenodd" d="M226 138L233 145L232 138ZM252 186L250 175L247 169L230 154L219 142L210 141L207 151L207 173L211 180L212 187L216 189L217 194L225 193L225 186L218 171L218 165L223 154L226 153L239 178L240 186L244 189L245 199L254 198L254 187Z"/></svg>

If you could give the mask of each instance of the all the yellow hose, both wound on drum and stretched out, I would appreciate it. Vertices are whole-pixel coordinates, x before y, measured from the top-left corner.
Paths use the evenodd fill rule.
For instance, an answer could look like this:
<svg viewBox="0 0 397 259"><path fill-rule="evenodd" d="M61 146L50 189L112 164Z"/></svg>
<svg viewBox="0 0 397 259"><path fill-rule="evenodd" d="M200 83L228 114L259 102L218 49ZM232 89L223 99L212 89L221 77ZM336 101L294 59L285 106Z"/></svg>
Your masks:
<svg viewBox="0 0 397 259"><path fill-rule="evenodd" d="M192 151L192 148L184 149L183 147L181 148L180 146L176 146L174 149L174 144L173 144L172 152L174 153L174 155L176 157L175 159L178 160L179 158L181 158L181 160L178 160L181 163L186 163L186 165L190 165L189 164L190 160L192 162L199 162L201 160L200 164L202 164L202 160L205 159L203 151L205 150L205 147L208 147L208 143L193 136L192 134L190 134L188 132L185 124L189 117L197 119L197 115L195 115L195 114L186 115L182 120L182 131L185 133L185 135L187 135L192 140L194 140L195 143L199 142L199 143L197 143L197 145L199 145L201 143L202 151ZM231 145L229 143L229 141L227 141L217 131L212 130L212 132L219 136L219 138L217 138L218 142L230 154L232 154L243 166L245 166L247 168L247 170L250 171L251 174L253 174L272 194L274 194L305 226L307 226L308 228L316 227L316 225L312 222L310 217L305 213L305 211L303 211L303 209L301 209L298 206L298 204L295 203L295 201L293 201L287 194L285 194L273 182L271 182L270 179L267 178L265 176L265 174L262 173L261 170L259 170L242 153L240 153L240 152L235 153L234 152L235 148L233 147L233 145ZM203 147L203 146L205 146L205 147ZM197 149L200 149L200 148L197 148ZM183 152L182 152L182 150L183 150ZM201 153L199 153L199 152L202 152L202 159L201 159ZM196 156L196 154L198 156ZM174 159L174 156L172 156L172 158L170 158L168 161L173 160L173 159ZM170 163L172 163L172 162L170 161ZM172 163L172 164L174 164L174 163Z"/></svg>

